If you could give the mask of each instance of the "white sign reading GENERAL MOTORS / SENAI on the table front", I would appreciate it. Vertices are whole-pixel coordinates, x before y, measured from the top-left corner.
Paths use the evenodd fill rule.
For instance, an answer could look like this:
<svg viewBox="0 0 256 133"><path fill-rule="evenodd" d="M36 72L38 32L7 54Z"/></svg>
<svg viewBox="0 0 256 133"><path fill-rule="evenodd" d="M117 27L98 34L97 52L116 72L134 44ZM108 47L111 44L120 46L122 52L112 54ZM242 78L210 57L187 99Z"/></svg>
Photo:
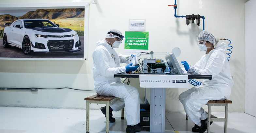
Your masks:
<svg viewBox="0 0 256 133"><path fill-rule="evenodd" d="M187 75L139 75L141 88L188 88Z"/></svg>

